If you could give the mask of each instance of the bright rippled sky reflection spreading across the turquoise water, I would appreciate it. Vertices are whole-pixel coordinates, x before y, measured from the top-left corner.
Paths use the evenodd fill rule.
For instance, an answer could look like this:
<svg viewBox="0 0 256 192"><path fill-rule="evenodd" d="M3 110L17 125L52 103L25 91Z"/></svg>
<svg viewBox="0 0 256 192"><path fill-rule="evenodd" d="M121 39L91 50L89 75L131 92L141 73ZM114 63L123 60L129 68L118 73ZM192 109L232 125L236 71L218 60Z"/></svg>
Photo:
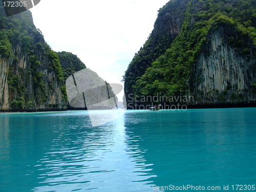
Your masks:
<svg viewBox="0 0 256 192"><path fill-rule="evenodd" d="M68 127L52 141L38 161L39 178L35 191L147 191L141 177L146 169L137 146L127 146L123 118L100 127ZM142 186L142 187L141 187ZM134 188L134 190L133 190Z"/></svg>

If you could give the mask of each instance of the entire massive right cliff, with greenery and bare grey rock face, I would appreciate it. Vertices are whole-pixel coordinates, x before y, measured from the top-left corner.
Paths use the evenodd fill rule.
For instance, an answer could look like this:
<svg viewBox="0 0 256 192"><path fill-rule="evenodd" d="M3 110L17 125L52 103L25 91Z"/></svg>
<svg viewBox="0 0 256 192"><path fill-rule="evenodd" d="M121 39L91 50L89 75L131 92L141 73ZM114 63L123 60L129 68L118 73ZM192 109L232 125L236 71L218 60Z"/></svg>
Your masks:
<svg viewBox="0 0 256 192"><path fill-rule="evenodd" d="M138 96L193 98L155 102L191 108L255 106L255 1L169 1L123 80L129 109L152 103Z"/></svg>

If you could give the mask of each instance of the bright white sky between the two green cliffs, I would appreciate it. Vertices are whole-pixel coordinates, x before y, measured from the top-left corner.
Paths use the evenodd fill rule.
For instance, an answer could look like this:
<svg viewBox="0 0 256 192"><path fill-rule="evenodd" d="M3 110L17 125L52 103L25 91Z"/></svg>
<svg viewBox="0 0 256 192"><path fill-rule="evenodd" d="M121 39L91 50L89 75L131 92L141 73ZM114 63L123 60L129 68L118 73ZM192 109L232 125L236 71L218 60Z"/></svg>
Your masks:
<svg viewBox="0 0 256 192"><path fill-rule="evenodd" d="M129 63L168 0L41 0L34 24L56 52L77 55L109 83L121 83ZM122 84L122 83L121 83ZM123 92L118 94L122 100Z"/></svg>

